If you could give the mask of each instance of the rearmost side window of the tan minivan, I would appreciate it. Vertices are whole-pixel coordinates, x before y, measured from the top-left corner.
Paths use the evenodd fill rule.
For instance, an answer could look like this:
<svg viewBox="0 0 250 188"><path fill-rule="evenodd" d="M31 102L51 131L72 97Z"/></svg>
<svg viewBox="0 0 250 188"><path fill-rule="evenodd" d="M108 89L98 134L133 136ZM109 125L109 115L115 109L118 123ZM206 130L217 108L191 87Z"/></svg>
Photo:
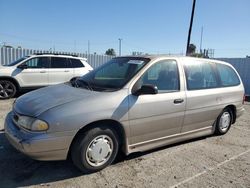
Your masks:
<svg viewBox="0 0 250 188"><path fill-rule="evenodd" d="M237 74L231 67L223 64L217 64L216 67L220 75L222 86L236 86L240 84Z"/></svg>

